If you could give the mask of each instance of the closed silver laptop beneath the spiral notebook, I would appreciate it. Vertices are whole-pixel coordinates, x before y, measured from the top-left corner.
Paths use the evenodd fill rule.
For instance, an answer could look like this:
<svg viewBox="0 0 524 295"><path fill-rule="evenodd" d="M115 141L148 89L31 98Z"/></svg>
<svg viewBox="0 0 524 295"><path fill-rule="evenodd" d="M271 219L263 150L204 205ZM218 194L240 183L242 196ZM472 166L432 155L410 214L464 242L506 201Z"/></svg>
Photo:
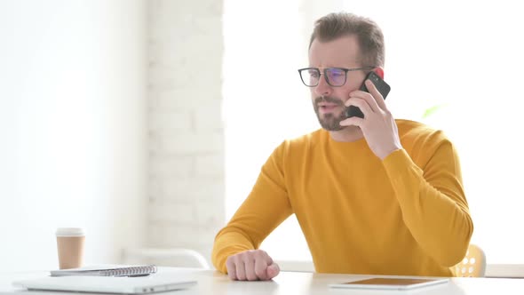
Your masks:
<svg viewBox="0 0 524 295"><path fill-rule="evenodd" d="M41 291L81 291L118 294L147 294L161 291L186 289L196 284L176 275L147 275L140 277L112 276L46 276L20 280L14 286Z"/></svg>

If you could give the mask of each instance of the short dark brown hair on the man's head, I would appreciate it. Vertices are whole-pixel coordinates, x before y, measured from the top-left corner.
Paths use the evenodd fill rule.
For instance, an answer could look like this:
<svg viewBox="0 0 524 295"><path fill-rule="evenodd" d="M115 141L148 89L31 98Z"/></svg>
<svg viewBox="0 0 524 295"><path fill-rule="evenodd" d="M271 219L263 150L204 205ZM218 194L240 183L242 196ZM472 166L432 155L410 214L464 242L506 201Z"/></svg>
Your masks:
<svg viewBox="0 0 524 295"><path fill-rule="evenodd" d="M356 36L361 54L362 67L384 67L384 35L377 23L353 13L336 12L323 16L314 23L309 48L314 39L333 41L342 36Z"/></svg>

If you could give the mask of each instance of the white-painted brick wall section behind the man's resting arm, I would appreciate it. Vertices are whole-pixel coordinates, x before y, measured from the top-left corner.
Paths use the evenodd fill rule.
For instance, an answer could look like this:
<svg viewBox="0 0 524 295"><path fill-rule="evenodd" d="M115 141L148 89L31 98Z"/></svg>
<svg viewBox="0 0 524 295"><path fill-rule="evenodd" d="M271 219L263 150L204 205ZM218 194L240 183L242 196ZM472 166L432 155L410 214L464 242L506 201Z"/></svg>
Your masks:
<svg viewBox="0 0 524 295"><path fill-rule="evenodd" d="M148 244L210 260L225 218L222 1L150 1Z"/></svg>

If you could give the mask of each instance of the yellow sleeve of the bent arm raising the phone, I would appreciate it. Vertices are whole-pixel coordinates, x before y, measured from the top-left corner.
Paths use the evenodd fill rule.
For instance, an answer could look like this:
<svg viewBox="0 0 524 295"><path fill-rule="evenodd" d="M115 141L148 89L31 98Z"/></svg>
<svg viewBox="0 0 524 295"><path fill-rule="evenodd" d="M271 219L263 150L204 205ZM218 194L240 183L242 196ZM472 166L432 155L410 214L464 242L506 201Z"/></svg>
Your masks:
<svg viewBox="0 0 524 295"><path fill-rule="evenodd" d="M383 164L411 235L441 266L452 267L467 251L472 219L451 142L433 142L427 152L424 169L404 149L386 156Z"/></svg>

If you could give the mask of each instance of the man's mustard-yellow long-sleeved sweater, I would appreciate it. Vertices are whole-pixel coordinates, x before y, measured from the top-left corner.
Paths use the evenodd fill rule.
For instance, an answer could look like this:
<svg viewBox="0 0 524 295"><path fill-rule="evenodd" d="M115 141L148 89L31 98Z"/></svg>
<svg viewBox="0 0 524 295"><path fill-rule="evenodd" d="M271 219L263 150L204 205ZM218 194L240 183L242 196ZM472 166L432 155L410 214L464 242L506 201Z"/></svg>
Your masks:
<svg viewBox="0 0 524 295"><path fill-rule="evenodd" d="M403 149L383 161L322 129L284 141L218 232L214 266L226 273L227 257L295 213L317 272L452 276L473 231L457 151L440 131L396 123Z"/></svg>

